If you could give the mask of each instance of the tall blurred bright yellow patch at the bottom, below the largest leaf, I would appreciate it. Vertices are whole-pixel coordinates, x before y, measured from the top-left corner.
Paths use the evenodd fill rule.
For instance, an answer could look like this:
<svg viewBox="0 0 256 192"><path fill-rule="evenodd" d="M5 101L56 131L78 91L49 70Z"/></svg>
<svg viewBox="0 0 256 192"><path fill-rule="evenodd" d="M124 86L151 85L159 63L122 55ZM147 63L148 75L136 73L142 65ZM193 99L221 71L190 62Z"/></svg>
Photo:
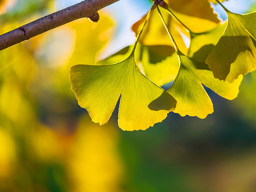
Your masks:
<svg viewBox="0 0 256 192"><path fill-rule="evenodd" d="M122 164L117 150L115 126L100 126L89 116L79 122L66 161L73 192L115 192L120 190Z"/></svg>

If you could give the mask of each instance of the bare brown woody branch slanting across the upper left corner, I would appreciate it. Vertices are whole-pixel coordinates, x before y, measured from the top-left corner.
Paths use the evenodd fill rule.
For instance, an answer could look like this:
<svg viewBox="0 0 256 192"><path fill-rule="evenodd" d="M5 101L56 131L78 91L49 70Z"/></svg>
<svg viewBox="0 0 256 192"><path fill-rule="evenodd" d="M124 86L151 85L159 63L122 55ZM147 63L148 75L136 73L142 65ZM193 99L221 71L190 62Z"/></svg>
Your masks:
<svg viewBox="0 0 256 192"><path fill-rule="evenodd" d="M0 36L0 51L79 18L98 21L97 11L116 1L119 0L85 0L4 33Z"/></svg>

